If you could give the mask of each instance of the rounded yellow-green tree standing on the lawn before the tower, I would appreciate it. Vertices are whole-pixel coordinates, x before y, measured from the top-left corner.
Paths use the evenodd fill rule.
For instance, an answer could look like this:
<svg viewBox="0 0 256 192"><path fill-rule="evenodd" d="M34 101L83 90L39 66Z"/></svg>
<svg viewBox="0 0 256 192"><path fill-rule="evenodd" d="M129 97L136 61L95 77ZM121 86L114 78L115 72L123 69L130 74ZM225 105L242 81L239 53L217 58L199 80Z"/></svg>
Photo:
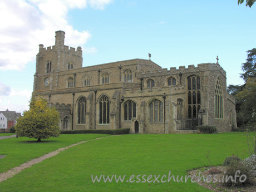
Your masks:
<svg viewBox="0 0 256 192"><path fill-rule="evenodd" d="M29 111L24 111L15 125L16 134L37 139L48 139L58 137L60 129L58 127L59 114L55 107L47 105L45 99L32 99L29 104Z"/></svg>

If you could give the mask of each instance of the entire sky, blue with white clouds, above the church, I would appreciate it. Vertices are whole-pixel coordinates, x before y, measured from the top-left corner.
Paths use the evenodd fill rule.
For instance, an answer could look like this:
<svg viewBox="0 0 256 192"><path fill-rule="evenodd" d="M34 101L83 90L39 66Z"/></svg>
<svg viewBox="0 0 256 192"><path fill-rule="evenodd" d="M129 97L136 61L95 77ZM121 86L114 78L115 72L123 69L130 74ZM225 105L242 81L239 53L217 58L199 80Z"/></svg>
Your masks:
<svg viewBox="0 0 256 192"><path fill-rule="evenodd" d="M8 0L0 3L0 110L23 112L38 45L82 46L83 66L148 58L163 68L216 62L227 84L256 47L256 5L227 1Z"/></svg>

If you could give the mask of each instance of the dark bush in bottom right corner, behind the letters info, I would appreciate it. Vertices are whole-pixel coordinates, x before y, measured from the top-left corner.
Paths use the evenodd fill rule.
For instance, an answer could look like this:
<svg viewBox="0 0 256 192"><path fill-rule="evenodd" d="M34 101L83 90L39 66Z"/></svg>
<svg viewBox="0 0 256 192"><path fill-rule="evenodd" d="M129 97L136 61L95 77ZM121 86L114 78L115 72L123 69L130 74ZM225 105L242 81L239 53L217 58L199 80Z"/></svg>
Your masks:
<svg viewBox="0 0 256 192"><path fill-rule="evenodd" d="M237 171L240 171L237 172ZM235 173L237 173L237 177L235 178ZM242 176L245 175L245 176ZM226 173L224 172L224 183L225 186L247 186L247 185L253 185L254 182L254 176L252 174L252 171L250 171L250 168L242 163L242 161L236 161L233 160L230 162L230 165L228 166L228 169ZM231 179L231 177L232 179ZM245 180L244 180L245 179Z"/></svg>

